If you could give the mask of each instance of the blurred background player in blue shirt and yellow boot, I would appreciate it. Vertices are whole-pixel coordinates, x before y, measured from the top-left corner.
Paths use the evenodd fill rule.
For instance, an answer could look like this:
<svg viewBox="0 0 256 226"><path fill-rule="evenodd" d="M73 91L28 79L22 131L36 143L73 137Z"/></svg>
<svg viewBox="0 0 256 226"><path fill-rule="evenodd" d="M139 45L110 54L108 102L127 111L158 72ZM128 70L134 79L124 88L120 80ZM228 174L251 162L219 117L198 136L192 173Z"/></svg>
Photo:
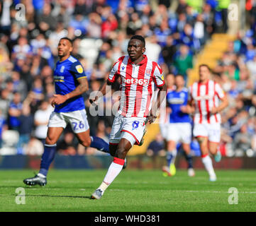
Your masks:
<svg viewBox="0 0 256 226"><path fill-rule="evenodd" d="M175 76L174 90L167 93L167 113L169 113L169 124L167 125L167 166L162 167L165 176L174 176L176 167L174 165L177 155L177 143L182 143L182 148L188 162L188 174L194 177L192 157L190 154L191 143L191 119L189 114L192 108L188 106L188 89L184 87L184 78Z"/></svg>

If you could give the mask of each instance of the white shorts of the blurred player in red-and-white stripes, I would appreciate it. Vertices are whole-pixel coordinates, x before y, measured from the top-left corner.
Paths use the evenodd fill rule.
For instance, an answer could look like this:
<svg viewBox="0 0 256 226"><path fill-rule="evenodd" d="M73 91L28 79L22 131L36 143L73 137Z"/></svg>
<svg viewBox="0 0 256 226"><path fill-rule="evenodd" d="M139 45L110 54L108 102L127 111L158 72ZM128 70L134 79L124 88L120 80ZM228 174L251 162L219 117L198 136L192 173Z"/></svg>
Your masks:
<svg viewBox="0 0 256 226"><path fill-rule="evenodd" d="M194 124L194 137L207 137L208 141L219 143L221 141L221 124Z"/></svg>

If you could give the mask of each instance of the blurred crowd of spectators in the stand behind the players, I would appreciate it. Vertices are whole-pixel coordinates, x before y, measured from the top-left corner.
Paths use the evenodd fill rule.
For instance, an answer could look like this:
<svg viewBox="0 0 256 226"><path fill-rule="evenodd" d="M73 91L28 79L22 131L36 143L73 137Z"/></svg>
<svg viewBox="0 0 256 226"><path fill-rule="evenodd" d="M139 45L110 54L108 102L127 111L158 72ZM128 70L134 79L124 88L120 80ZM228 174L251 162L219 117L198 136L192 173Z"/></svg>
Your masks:
<svg viewBox="0 0 256 226"><path fill-rule="evenodd" d="M50 101L55 93L53 70L61 37L73 40L89 81L84 94L91 135L108 141L112 106L118 97L104 97L111 115L91 115L89 95L98 90L111 66L127 54L132 35L143 35L148 58L165 74L189 80L193 57L215 32L228 31L229 0L2 0L0 1L0 155L42 154ZM223 113L223 148L256 150L255 1L247 6L249 30L230 42L213 69L228 93ZM24 13L26 12L26 13ZM119 89L116 83L112 93ZM108 100L109 99L109 100ZM16 142L15 142L16 141ZM68 127L57 143L63 155L98 154L79 145Z"/></svg>

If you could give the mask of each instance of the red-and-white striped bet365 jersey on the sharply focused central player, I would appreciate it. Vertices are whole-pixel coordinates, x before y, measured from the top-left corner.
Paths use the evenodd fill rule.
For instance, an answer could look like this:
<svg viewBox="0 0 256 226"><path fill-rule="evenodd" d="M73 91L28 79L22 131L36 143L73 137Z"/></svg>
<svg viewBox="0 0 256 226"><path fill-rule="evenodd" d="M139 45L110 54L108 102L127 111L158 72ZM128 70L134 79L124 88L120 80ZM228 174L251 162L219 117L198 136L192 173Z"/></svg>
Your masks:
<svg viewBox="0 0 256 226"><path fill-rule="evenodd" d="M152 107L154 83L157 87L165 84L160 66L146 55L143 57L138 65L129 56L119 58L108 75L111 83L121 77L118 113L125 117L147 117Z"/></svg>

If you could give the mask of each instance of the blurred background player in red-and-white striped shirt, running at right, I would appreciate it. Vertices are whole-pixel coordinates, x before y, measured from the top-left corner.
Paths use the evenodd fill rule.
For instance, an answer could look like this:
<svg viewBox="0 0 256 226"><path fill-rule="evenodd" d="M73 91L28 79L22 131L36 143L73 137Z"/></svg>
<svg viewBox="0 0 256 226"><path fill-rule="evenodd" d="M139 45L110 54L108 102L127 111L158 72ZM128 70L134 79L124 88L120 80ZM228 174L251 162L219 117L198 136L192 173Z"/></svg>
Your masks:
<svg viewBox="0 0 256 226"><path fill-rule="evenodd" d="M210 79L211 71L206 64L199 66L199 82L189 88L190 104L194 107L193 135L199 142L201 158L210 176L210 181L216 181L211 157L208 151L215 156L216 162L221 160L218 144L221 141L221 114L228 106L221 85Z"/></svg>

